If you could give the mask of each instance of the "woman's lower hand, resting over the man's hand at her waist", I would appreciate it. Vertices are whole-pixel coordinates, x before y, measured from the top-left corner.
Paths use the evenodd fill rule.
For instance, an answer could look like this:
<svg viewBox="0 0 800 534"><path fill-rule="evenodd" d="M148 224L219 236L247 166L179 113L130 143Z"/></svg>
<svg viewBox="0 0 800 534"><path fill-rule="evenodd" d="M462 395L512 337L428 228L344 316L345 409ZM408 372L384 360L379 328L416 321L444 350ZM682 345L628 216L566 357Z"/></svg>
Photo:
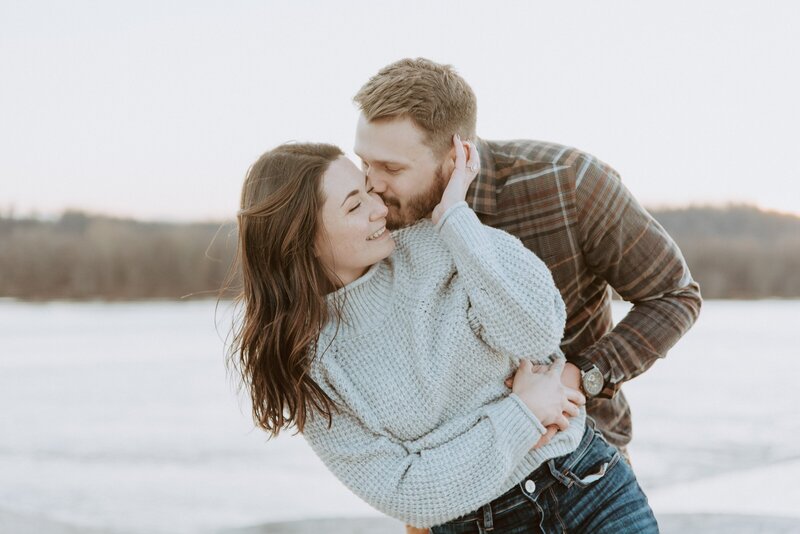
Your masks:
<svg viewBox="0 0 800 534"><path fill-rule="evenodd" d="M529 360L520 360L511 390L533 412L542 426L555 425L558 430L566 430L569 427L567 418L577 416L579 407L586 404L586 397L580 391L562 384L559 365L548 368L534 366Z"/></svg>

